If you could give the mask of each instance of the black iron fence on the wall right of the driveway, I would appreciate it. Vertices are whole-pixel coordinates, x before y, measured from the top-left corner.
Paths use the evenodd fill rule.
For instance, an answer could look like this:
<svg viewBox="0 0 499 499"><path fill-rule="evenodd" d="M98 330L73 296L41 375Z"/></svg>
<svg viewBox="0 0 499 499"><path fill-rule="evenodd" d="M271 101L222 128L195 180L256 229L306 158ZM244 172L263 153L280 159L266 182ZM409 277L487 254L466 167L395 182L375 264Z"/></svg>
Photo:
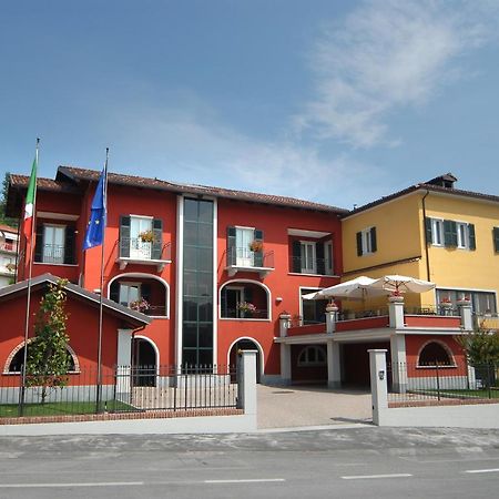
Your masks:
<svg viewBox="0 0 499 499"><path fill-rule="evenodd" d="M499 366L398 363L387 365L388 403L450 405L499 403Z"/></svg>

